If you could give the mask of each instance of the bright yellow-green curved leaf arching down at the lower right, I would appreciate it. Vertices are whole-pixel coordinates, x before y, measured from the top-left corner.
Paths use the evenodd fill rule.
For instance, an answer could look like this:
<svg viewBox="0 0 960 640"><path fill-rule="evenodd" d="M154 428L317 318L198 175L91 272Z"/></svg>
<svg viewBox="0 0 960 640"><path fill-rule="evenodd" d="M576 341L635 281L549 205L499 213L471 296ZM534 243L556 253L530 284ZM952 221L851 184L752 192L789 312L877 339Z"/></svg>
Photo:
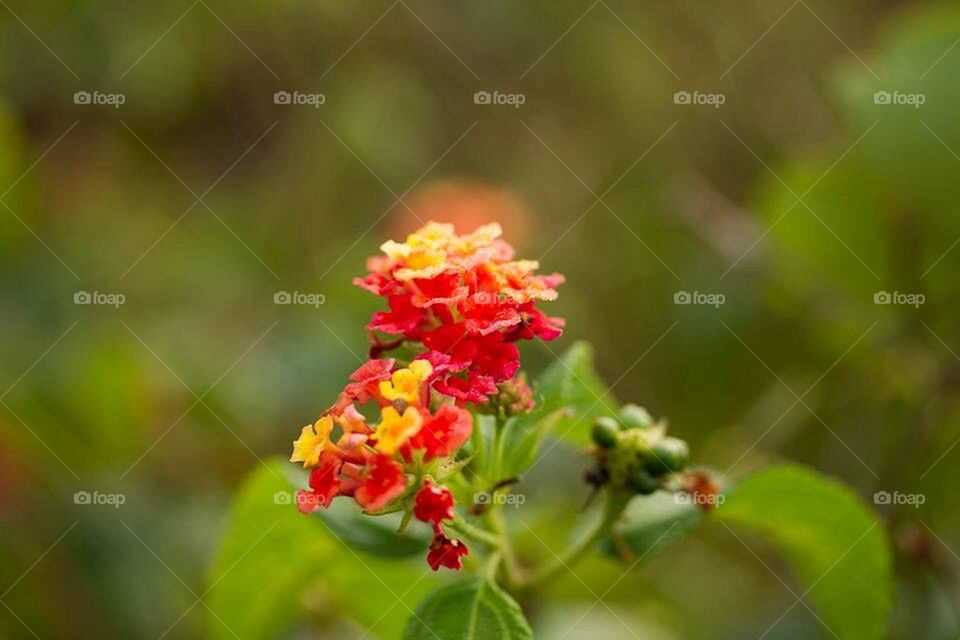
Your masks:
<svg viewBox="0 0 960 640"><path fill-rule="evenodd" d="M747 477L715 517L770 538L840 640L880 638L892 592L883 525L847 487L799 466Z"/></svg>

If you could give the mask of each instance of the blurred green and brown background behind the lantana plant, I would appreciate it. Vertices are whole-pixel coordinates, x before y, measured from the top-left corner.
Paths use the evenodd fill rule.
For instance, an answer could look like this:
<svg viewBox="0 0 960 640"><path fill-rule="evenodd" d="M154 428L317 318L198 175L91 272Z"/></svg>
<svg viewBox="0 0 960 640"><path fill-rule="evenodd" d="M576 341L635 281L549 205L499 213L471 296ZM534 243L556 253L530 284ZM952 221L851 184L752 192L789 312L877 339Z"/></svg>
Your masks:
<svg viewBox="0 0 960 640"><path fill-rule="evenodd" d="M955 6L0 4L0 637L207 636L231 496L357 366L378 301L350 280L418 218L498 220L567 275L530 371L586 339L696 462L852 485L894 544L890 637L960 632ZM530 521L571 515L584 465L551 452ZM795 598L750 544L707 527L609 608L586 585L622 569L587 563L538 637L756 638ZM290 637L344 624L314 603ZM822 633L795 607L767 637Z"/></svg>

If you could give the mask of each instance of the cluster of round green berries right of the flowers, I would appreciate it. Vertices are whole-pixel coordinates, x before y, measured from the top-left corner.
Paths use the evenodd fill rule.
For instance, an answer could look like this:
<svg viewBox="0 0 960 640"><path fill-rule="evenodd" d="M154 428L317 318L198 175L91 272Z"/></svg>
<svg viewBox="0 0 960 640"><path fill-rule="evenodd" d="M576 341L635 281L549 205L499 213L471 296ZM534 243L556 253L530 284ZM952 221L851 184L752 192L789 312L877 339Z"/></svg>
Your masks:
<svg viewBox="0 0 960 640"><path fill-rule="evenodd" d="M624 406L615 418L597 418L591 431L597 462L587 471L587 482L653 493L664 476L681 471L690 458L687 443L666 432L665 423L654 422L635 404Z"/></svg>

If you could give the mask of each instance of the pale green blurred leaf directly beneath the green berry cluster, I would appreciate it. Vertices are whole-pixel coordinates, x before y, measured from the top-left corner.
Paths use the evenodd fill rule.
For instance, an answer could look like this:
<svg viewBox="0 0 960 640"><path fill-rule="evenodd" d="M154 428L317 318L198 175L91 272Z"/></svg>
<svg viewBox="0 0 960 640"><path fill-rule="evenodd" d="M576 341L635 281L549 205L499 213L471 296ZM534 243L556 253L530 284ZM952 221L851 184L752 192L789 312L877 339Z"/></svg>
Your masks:
<svg viewBox="0 0 960 640"><path fill-rule="evenodd" d="M634 498L624 512L623 524L601 543L601 549L616 556L629 550L637 559L647 560L686 536L703 520L703 511L692 502L678 502L679 495L655 493Z"/></svg>

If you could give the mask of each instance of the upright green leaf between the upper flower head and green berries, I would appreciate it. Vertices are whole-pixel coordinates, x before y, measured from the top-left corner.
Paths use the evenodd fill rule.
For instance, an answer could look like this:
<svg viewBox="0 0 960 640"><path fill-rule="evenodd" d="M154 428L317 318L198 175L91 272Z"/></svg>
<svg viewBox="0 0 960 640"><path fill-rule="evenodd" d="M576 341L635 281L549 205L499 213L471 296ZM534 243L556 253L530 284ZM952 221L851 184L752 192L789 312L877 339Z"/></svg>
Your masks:
<svg viewBox="0 0 960 640"><path fill-rule="evenodd" d="M535 384L539 402L529 415L518 420L518 428L535 429L542 420L564 409L565 414L551 425L557 437L578 445L590 441L590 425L600 415L613 414L619 404L593 365L593 347L576 342L552 363Z"/></svg>

